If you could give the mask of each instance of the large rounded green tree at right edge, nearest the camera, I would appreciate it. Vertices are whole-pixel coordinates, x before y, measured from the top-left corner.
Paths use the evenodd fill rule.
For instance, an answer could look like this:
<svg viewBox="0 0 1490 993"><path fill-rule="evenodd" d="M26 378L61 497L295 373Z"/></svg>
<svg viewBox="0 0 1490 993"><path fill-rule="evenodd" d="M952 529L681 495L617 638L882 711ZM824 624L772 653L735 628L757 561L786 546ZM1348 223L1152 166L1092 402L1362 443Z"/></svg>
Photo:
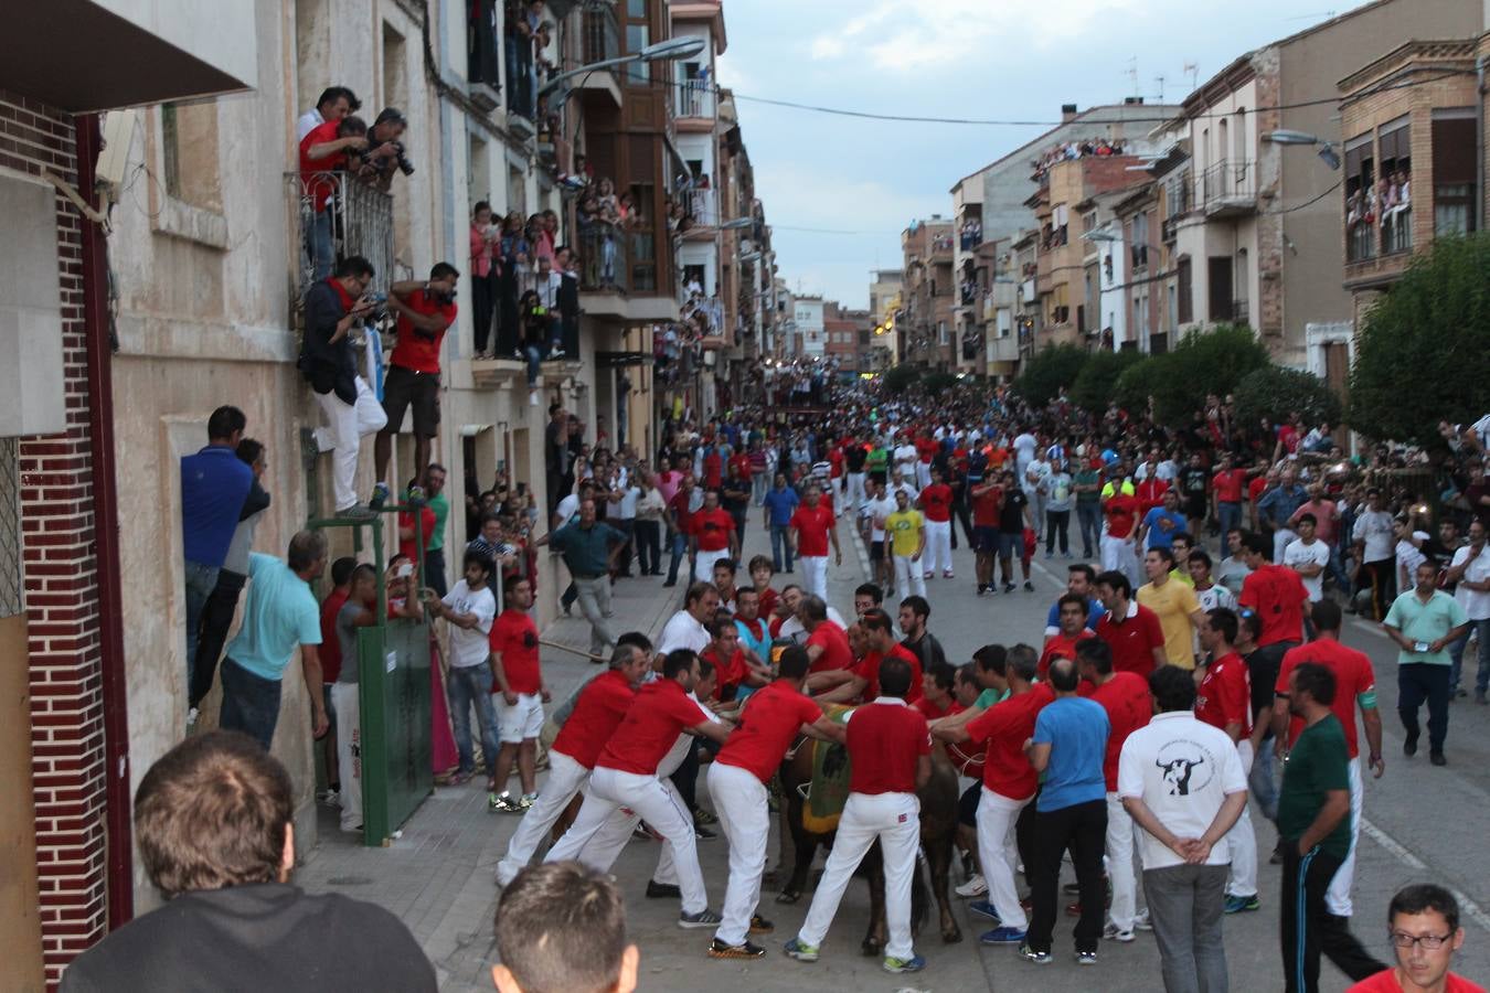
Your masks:
<svg viewBox="0 0 1490 993"><path fill-rule="evenodd" d="M1350 426L1438 444L1438 421L1490 409L1490 234L1438 238L1366 311L1350 372Z"/></svg>

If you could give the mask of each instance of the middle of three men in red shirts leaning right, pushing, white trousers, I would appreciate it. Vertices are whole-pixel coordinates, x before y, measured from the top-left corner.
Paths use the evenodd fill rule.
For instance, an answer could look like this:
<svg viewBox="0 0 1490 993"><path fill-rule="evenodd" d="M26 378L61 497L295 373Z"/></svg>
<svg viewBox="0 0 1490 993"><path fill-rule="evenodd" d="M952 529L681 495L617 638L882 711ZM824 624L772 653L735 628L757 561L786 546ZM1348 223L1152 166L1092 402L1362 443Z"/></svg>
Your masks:
<svg viewBox="0 0 1490 993"><path fill-rule="evenodd" d="M720 916L709 910L699 868L693 819L678 802L678 794L657 779L657 765L676 744L678 735L691 731L724 744L729 731L709 719L688 694L699 682L699 657L682 648L668 654L662 679L642 686L626 716L595 761L590 794L574 825L559 840L544 862L575 858L606 826L620 807L633 810L672 850L682 893L679 927L717 927ZM572 719L572 718L571 718Z"/></svg>

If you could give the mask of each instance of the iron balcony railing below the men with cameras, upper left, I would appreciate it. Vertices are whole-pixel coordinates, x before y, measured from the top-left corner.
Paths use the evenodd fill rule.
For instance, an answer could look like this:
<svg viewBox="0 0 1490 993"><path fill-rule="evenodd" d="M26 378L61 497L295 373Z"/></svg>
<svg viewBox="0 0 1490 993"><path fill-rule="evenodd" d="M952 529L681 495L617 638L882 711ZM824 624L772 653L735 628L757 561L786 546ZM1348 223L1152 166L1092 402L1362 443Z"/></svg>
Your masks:
<svg viewBox="0 0 1490 993"><path fill-rule="evenodd" d="M311 231L317 220L316 195L323 191L331 192L323 214L331 220L335 261L359 255L371 262L375 292L386 293L393 283L393 198L347 173L313 173L305 179L299 173L286 173L292 328L299 326L301 296L316 278Z"/></svg>

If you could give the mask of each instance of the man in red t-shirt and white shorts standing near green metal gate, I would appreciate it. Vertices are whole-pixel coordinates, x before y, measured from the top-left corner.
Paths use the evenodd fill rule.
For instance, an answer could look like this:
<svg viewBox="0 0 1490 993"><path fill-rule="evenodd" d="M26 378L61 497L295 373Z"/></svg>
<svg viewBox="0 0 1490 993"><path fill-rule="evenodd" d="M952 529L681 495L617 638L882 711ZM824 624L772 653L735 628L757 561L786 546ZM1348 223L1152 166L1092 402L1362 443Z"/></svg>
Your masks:
<svg viewBox="0 0 1490 993"><path fill-rule="evenodd" d="M492 782L502 791L492 798L492 810L520 813L533 805L538 786L533 762L538 734L544 729L544 704L548 683L538 662L538 625L527 615L533 606L533 585L526 578L507 588L507 609L492 622L492 695L496 697L496 727L502 743L496 753ZM517 759L523 785L522 801L507 792L507 777Z"/></svg>

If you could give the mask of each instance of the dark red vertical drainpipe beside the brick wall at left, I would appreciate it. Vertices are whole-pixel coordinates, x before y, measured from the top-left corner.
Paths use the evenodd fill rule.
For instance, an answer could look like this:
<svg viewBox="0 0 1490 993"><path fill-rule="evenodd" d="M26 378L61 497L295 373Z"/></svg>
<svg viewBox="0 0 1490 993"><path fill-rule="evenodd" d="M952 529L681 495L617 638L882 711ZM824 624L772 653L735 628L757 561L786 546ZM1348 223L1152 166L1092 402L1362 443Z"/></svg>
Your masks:
<svg viewBox="0 0 1490 993"><path fill-rule="evenodd" d="M94 165L103 146L98 115L73 119L77 189L92 202ZM107 235L82 223L83 339L88 353L88 457L92 464L94 567L98 576L98 642L103 661L103 749L109 930L134 916L130 820L130 715L124 676L124 606L119 596L119 488L113 448L113 347L109 335Z"/></svg>

